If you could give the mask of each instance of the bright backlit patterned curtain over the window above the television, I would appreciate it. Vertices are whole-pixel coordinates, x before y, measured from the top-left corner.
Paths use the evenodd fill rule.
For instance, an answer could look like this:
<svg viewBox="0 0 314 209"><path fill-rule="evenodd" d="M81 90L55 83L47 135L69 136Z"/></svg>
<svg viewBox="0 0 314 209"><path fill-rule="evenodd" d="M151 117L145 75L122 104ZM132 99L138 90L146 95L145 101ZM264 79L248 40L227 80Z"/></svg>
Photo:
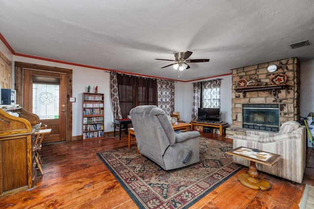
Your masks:
<svg viewBox="0 0 314 209"><path fill-rule="evenodd" d="M202 107L220 108L221 79L202 82Z"/></svg>

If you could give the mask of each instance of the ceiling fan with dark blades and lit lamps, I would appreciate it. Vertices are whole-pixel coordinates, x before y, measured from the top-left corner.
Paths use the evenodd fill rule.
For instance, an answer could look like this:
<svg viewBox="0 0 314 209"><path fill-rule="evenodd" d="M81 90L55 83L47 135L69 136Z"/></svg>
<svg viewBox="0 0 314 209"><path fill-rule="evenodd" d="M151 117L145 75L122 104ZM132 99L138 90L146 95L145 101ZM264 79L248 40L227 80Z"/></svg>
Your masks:
<svg viewBox="0 0 314 209"><path fill-rule="evenodd" d="M173 61L174 63L167 65L162 68L166 68L169 66L173 66L176 70L184 70L189 69L190 66L187 63L200 63L200 62L209 62L209 59L193 59L193 60L186 60L191 56L193 52L185 51L185 52L177 52L175 53L176 60L166 60L166 59L156 59L156 60L165 60L165 61Z"/></svg>

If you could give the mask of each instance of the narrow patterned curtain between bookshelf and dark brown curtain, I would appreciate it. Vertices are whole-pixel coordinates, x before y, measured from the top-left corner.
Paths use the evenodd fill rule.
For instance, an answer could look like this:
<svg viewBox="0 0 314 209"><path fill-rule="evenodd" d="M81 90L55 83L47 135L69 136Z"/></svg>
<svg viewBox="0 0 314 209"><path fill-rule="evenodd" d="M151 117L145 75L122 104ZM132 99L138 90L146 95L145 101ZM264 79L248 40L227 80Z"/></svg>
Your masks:
<svg viewBox="0 0 314 209"><path fill-rule="evenodd" d="M120 100L119 100L119 91L118 91L118 82L116 72L110 72L110 97L111 105L113 111L113 118L122 118Z"/></svg>

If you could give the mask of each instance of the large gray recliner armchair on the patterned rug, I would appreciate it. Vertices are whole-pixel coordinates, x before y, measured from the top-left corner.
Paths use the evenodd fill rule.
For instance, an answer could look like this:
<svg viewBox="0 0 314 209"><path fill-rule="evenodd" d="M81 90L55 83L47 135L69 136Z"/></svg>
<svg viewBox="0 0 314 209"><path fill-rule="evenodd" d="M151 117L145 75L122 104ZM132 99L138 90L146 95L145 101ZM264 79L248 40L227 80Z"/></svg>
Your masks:
<svg viewBox="0 0 314 209"><path fill-rule="evenodd" d="M130 115L139 152L164 170L199 162L198 131L175 133L166 114L155 105L137 106Z"/></svg>

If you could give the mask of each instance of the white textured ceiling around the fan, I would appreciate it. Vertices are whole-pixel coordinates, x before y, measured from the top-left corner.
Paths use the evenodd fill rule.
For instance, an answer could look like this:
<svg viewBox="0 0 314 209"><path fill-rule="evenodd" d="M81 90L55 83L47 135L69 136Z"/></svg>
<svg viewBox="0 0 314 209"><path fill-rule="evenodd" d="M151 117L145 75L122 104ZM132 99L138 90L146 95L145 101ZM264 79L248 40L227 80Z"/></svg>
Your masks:
<svg viewBox="0 0 314 209"><path fill-rule="evenodd" d="M313 0L0 0L17 54L175 80L273 60L314 59ZM289 44L309 40L310 46ZM174 53L192 51L178 70Z"/></svg>

